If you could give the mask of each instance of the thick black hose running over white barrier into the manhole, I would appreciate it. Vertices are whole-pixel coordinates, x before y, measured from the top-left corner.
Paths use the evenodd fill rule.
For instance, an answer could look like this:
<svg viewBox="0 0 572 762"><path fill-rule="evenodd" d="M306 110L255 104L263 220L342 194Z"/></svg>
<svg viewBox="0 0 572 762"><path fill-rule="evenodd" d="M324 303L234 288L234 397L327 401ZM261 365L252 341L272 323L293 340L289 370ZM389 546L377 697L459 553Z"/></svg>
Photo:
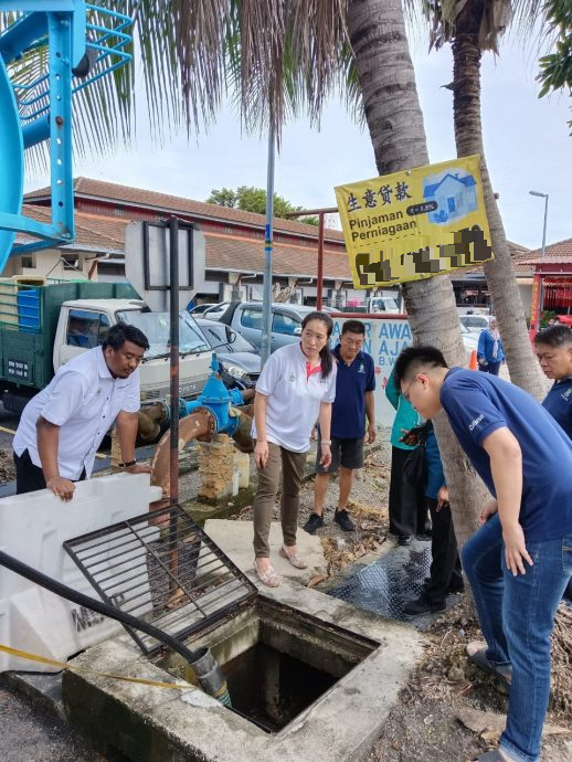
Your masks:
<svg viewBox="0 0 572 762"><path fill-rule="evenodd" d="M199 685L205 694L213 696L221 701L221 703L224 703L227 707L231 706L231 699L226 689L224 677L220 673L219 666L214 662L212 655L210 659L204 659L205 655L210 654L204 646L201 646L197 650L191 650L190 648L187 648L187 646L183 646L182 643L179 643L179 641L177 641L174 637L171 637L168 633L159 629L158 627L153 627L152 624L149 624L144 620L139 620L137 616L131 616L131 614L126 614L118 608L114 608L108 603L97 601L94 597L89 597L89 595L84 595L84 593L80 593L76 590L63 584L63 582L59 582L57 580L53 580L51 576L46 576L36 569L32 569L32 567L27 565L22 561L19 561L18 559L14 559L12 555L8 555L8 553L2 551L0 551L0 565L4 567L6 569L10 569L10 571L13 571L15 574L19 574L20 576L23 576L35 584L39 584L41 588L45 588L45 590L55 593L55 595L60 595L60 597L64 597L72 603L76 603L78 606L85 606L86 608L95 611L98 614L103 614L104 616L108 616L110 620L120 622L128 627L138 629L139 632L153 637L156 641L159 641L159 643L162 643L169 648L172 648L172 650L182 656L182 658L191 665L194 674L197 675Z"/></svg>

